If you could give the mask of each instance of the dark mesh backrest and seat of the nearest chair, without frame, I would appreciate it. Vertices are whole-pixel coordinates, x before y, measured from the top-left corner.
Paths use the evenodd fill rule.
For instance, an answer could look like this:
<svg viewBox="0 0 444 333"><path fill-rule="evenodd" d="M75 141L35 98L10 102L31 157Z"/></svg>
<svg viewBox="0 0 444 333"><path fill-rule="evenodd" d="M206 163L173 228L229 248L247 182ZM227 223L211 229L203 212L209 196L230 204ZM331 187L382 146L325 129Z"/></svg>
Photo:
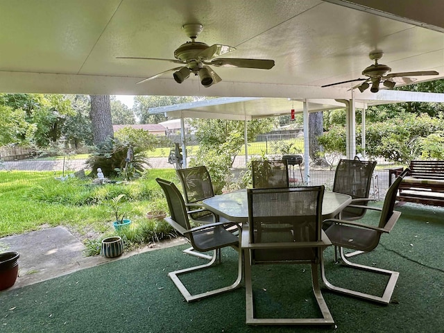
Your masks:
<svg viewBox="0 0 444 333"><path fill-rule="evenodd" d="M248 189L250 243L321 241L324 186ZM252 250L254 262L317 262L318 248Z"/></svg>

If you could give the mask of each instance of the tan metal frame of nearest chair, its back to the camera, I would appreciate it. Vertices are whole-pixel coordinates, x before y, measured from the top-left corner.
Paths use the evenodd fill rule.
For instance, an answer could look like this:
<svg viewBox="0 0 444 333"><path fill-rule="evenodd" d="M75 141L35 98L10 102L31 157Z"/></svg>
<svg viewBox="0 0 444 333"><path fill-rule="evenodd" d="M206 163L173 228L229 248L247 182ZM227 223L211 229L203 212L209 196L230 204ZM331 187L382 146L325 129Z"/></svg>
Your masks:
<svg viewBox="0 0 444 333"><path fill-rule="evenodd" d="M325 302L322 293L321 286L319 284L318 279L318 265L319 262L311 262L311 284L314 292L314 296L316 298L316 302L318 303L318 307L321 310L322 318L255 318L255 307L253 302L253 283L252 283L252 251L254 250L275 250L275 249L307 249L307 248L317 248L318 256L321 258L321 253L327 246L331 246L332 243L328 239L325 232L323 232L321 228L321 210L322 210L322 200L323 200L323 191L324 188L320 187L321 191L319 192L318 198L318 231L321 232L321 240L320 241L299 241L299 242L283 242L283 243L252 243L252 234L254 230L250 228L252 225L250 223L244 224L242 228L242 237L241 237L241 247L244 250L244 274L245 274L245 287L246 287L246 323L248 325L334 325L334 320L330 310L327 307L327 303ZM300 187L299 189L304 189L304 187ZM305 187L308 189L308 187ZM278 191L281 189L277 189ZM297 191L298 188L289 188L288 191ZM262 189L248 189L248 191L262 191ZM248 198L250 201L250 198ZM248 203L250 206L250 202ZM249 215L250 207L248 208ZM249 218L250 219L250 218ZM264 263L266 264L266 263ZM270 264L274 264L270 262ZM297 262L295 262L297 264Z"/></svg>

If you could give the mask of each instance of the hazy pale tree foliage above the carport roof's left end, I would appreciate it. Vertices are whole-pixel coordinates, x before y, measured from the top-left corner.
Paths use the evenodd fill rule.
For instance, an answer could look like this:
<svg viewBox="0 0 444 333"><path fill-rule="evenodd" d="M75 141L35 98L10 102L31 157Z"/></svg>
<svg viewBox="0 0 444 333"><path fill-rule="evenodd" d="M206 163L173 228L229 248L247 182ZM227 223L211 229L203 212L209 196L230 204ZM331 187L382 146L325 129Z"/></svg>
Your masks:
<svg viewBox="0 0 444 333"><path fill-rule="evenodd" d="M133 110L139 123L160 123L166 121L167 117L163 114L149 114L150 108L192 101L194 98L188 96L135 96Z"/></svg>

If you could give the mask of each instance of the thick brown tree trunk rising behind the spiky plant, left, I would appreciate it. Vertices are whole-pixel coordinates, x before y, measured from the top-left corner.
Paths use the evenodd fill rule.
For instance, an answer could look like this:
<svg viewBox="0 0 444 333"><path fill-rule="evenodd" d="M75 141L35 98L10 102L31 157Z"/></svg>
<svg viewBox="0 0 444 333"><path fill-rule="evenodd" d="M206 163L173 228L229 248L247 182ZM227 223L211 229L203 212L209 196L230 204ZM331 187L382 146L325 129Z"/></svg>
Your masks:
<svg viewBox="0 0 444 333"><path fill-rule="evenodd" d="M111 104L109 95L91 96L92 138L95 145L114 137L111 120Z"/></svg>

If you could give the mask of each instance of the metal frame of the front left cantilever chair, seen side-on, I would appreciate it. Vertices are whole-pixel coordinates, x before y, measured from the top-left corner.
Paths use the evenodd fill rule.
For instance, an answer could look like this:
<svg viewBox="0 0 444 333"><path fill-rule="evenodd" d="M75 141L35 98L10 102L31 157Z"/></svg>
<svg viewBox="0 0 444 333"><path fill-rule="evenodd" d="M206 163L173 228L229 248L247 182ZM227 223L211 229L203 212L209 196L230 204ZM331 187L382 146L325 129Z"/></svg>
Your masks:
<svg viewBox="0 0 444 333"><path fill-rule="evenodd" d="M173 214L174 210L173 210L173 207L171 207L171 205L172 205L171 198L169 198L168 190L166 187L169 187L171 189L171 191L173 191L173 195L176 195L178 200L180 200L182 207L179 207L179 208L176 207L176 210L180 210L180 214L179 214L179 216L176 216L176 219L178 217L180 219L183 219L187 228L184 228L184 226L182 226L180 223L178 223L178 221L175 221L172 216L166 217L164 219L164 221L167 221L167 223L169 223L178 233L182 234L182 236L184 236L188 241L190 241L191 245L196 250L201 251L201 252L207 252L210 250L213 251L213 255L211 257L210 262L208 262L206 264L198 265L198 266L194 266L194 267L190 267L190 268L183 268L178 271L173 271L173 272L168 273L169 277L174 282L174 284L176 284L176 287L179 289L180 293L182 293L182 296L185 298L185 300L187 300L187 302L192 302L194 300L200 300L202 298L207 298L207 297L219 294L219 293L224 293L227 291L231 291L233 289L237 289L237 287L239 287L239 284L241 283L241 280L242 280L242 255L241 255L241 250L239 248L239 245L241 243L240 239L239 239L239 241L236 241L236 244L234 244L234 242L230 242L229 244L210 244L210 245L206 245L206 246L203 246L202 244L198 244L198 242L195 239L195 236L202 234L206 230L209 230L211 232L212 230L216 230L216 228L220 228L219 231L226 232L227 234L231 234L229 231L225 230L225 228L222 228L223 226L227 225L228 223L216 222L216 223L211 223L211 224L200 225L196 228L191 228L191 226L189 225L189 219L188 219L187 209L185 207L185 202L183 200L182 194L180 194L180 191L178 190L176 185L174 185L173 182L169 182L167 180L163 180L160 178L157 178L156 181L162 187L162 189L165 192L165 195L167 196L167 201L168 201L168 205L169 205L169 209L170 209L171 214ZM237 229L239 230L239 237L241 237L240 225L238 223L233 223L233 222L230 222L230 224L237 226ZM231 234L231 237L234 237L234 235ZM198 293L198 294L192 295L189 292L189 290L187 289L187 287L185 287L185 284L183 284L182 281L180 280L179 275L191 273L194 271L200 271L205 268L210 268L216 262L217 257L219 257L219 261L221 260L220 250L221 250L221 248L224 248L227 246L231 246L232 248L237 250L237 252L239 253L238 265L237 265L238 266L237 267L238 273L237 273L236 280L227 287L221 287L219 289L214 289L214 290L205 291L203 293Z"/></svg>

